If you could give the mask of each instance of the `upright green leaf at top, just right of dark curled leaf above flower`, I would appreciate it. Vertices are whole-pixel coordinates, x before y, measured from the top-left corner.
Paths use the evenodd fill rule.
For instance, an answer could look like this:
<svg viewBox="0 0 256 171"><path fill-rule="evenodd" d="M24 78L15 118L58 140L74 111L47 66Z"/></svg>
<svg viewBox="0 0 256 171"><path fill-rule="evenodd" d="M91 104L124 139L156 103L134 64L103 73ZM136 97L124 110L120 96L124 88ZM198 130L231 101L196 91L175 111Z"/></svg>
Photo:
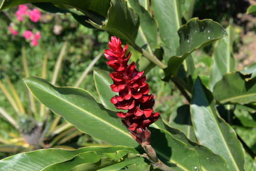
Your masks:
<svg viewBox="0 0 256 171"><path fill-rule="evenodd" d="M139 15L140 26L135 43L150 52L154 53L157 46L157 23L143 7L138 0L128 0L128 4Z"/></svg>

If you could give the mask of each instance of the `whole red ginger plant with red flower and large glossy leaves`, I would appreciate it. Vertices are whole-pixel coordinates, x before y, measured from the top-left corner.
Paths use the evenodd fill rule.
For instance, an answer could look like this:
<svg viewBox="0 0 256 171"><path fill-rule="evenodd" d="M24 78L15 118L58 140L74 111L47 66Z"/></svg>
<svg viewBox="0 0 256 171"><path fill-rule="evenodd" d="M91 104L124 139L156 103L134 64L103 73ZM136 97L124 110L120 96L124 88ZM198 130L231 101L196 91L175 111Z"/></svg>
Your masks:
<svg viewBox="0 0 256 171"><path fill-rule="evenodd" d="M1 9L35 2L4 1ZM255 154L233 127L256 125L255 64L235 70L232 26L225 30L211 19L191 18L196 2L192 0L46 2L34 5L50 12L71 13L82 25L120 38L111 38L110 50L105 50L108 65L115 72L109 77L106 71L94 70L99 101L88 91L55 87L43 78L28 77L24 79L26 86L78 130L113 146L40 149L3 159L1 168L233 171L253 167ZM122 48L121 42L139 52L133 58L137 69L135 62L127 65L131 53L125 55L127 46ZM212 42L211 58L198 60L193 52ZM209 75L198 69L197 64L202 63L209 68ZM148 95L142 76L155 66L164 72L162 80L172 80L189 103L179 106L169 120L153 112L153 96ZM255 160L253 165L255 169Z"/></svg>

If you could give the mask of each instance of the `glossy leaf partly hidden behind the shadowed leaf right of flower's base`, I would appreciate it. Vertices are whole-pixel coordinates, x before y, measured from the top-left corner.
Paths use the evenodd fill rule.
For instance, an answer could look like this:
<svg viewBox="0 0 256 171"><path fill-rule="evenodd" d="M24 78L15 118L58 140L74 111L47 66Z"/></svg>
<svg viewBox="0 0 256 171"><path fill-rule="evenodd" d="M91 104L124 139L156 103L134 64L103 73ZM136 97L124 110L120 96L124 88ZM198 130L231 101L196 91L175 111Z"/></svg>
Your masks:
<svg viewBox="0 0 256 171"><path fill-rule="evenodd" d="M165 121L158 120L154 127L162 130L168 131L175 139L182 141L186 144L186 147L189 149L195 149L196 152L199 155L200 159L200 168L199 170L222 170L222 171L228 171L228 165L227 162L219 155L212 152L208 147L199 145L196 142L190 141L187 139L186 135L181 132L178 129L174 129L173 127L170 127ZM194 168L196 170L196 168Z"/></svg>

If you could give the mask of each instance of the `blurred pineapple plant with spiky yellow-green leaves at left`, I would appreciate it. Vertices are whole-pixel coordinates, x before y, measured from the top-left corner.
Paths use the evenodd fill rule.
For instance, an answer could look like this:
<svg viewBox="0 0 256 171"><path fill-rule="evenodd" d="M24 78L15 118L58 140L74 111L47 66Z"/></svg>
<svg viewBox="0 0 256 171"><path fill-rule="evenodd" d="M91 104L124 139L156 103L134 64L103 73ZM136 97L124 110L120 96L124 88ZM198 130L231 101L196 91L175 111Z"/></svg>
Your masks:
<svg viewBox="0 0 256 171"><path fill-rule="evenodd" d="M61 63L63 57L66 54L68 46L68 40L63 43L62 49L59 53L57 61L54 67L54 73L52 76L52 84L55 84L59 76ZM41 77L46 78L47 74L47 52L45 54L44 62L42 63ZM95 60L92 61L91 65L88 66L84 74L80 77L80 80L84 79L90 69L93 67L95 62L102 55L100 53ZM23 66L25 76L29 77L29 69L26 57L26 49L22 48ZM81 81L78 80L76 86L78 87ZM50 147L61 147L66 149L76 149L72 145L63 145L70 139L81 136L82 133L76 129L73 125L68 122L61 121L60 116L52 117L44 105L37 105L34 97L28 92L29 106L25 106L19 96L15 87L11 83L9 77L6 77L8 87L11 93L4 86L4 83L0 81L0 90L6 96L6 99L10 102L12 108L16 112L16 116L12 116L10 112L7 112L3 107L0 106L0 114L20 133L20 135L12 134L11 138L1 137L1 153L16 154L25 151L32 151L39 148L50 148ZM27 111L25 110L27 109ZM83 144L84 145L84 144ZM101 144L98 144L101 145Z"/></svg>

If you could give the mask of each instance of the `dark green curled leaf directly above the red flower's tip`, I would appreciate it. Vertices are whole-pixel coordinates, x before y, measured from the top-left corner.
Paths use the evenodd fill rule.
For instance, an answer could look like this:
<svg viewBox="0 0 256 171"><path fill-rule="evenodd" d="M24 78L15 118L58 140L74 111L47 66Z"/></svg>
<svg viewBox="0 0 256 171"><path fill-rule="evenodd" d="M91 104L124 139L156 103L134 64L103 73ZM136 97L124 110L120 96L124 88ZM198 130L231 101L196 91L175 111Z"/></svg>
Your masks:
<svg viewBox="0 0 256 171"><path fill-rule="evenodd" d="M108 16L106 24L98 25L92 20L88 23L97 29L107 31L111 36L119 37L123 44L127 42L136 47L135 39L139 28L139 16L122 0L111 1Z"/></svg>

